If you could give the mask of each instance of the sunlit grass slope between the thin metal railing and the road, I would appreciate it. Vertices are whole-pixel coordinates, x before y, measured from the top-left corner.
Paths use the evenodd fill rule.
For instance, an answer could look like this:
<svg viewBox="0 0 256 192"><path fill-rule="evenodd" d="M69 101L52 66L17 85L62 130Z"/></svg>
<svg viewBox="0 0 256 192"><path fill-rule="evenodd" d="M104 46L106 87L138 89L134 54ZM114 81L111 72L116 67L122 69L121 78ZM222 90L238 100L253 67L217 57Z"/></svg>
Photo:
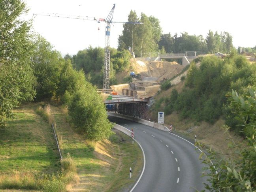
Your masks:
<svg viewBox="0 0 256 192"><path fill-rule="evenodd" d="M135 182L136 177L128 179L127 170L132 164L134 175L138 175L143 159L139 146L132 145L129 137L116 134L110 140L87 141L66 122L65 109L51 109L56 130L62 137L63 156L69 153L77 165L79 182L69 186L69 191L117 191Z"/></svg>

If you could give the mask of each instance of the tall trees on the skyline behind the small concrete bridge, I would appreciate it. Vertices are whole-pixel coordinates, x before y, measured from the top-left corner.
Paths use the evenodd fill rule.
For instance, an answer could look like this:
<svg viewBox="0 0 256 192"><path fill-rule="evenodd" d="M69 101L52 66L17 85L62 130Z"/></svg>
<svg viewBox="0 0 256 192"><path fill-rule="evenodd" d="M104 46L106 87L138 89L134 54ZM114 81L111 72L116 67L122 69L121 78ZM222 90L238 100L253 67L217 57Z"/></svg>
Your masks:
<svg viewBox="0 0 256 192"><path fill-rule="evenodd" d="M130 11L129 22L142 22L143 24L124 24L122 35L118 39L118 50L127 50L131 47L136 57L149 56L149 53L184 53L185 51L203 51L205 53L230 53L234 49L232 35L228 32L213 33L209 30L206 39L202 35L189 35L187 32L180 36L175 33L162 34L160 21L136 11Z"/></svg>

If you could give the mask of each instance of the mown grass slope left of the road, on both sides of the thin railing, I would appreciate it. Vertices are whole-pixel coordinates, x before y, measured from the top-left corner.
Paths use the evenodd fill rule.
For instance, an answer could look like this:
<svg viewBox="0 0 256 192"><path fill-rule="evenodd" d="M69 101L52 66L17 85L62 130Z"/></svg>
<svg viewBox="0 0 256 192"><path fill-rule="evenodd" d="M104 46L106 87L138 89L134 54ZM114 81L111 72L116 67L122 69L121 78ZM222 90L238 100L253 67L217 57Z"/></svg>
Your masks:
<svg viewBox="0 0 256 192"><path fill-rule="evenodd" d="M26 174L56 173L60 169L53 132L35 113L38 105L21 105L15 110L17 119L8 120L6 129L0 130L0 175L13 170ZM86 141L70 128L64 109L51 106L51 112L61 137L62 154L66 157L69 153L77 165L77 184L67 186L68 191L122 191L132 186L143 163L137 144L132 145L130 138L121 133L110 140ZM129 179L130 167L134 173L132 179Z"/></svg>

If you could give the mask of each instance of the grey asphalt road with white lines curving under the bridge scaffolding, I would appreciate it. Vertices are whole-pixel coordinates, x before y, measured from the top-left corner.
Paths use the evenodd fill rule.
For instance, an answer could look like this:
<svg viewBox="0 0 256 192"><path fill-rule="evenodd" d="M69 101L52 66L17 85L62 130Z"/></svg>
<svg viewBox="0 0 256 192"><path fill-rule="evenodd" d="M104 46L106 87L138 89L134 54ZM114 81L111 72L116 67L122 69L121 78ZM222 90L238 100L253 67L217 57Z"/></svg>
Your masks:
<svg viewBox="0 0 256 192"><path fill-rule="evenodd" d="M200 151L181 137L137 122L109 117L111 122L134 129L145 153L145 171L133 192L192 192L203 190Z"/></svg>

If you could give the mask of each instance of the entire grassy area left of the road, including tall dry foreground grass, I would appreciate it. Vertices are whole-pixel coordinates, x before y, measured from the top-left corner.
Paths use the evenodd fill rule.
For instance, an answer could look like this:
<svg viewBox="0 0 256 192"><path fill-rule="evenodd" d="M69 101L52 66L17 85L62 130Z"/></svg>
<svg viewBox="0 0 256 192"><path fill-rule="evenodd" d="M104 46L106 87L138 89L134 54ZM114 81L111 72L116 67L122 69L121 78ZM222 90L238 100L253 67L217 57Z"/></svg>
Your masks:
<svg viewBox="0 0 256 192"><path fill-rule="evenodd" d="M51 106L50 111L47 107L43 111L39 106L21 105L14 111L16 119L8 120L6 129L0 130L0 189L56 192L131 188L143 164L136 143L132 145L122 133L109 140L87 141L68 124L66 109ZM56 125L62 161L46 119Z"/></svg>

